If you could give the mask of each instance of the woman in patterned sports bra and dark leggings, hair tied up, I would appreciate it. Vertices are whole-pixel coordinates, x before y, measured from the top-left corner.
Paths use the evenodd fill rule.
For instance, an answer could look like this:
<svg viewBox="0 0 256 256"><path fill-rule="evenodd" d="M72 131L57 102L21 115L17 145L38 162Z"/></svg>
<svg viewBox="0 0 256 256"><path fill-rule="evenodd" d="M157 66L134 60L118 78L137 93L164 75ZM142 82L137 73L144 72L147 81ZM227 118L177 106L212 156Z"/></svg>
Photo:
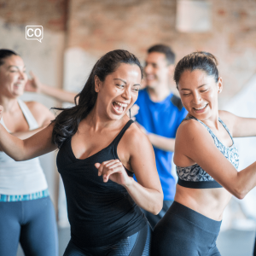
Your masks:
<svg viewBox="0 0 256 256"><path fill-rule="evenodd" d="M256 186L256 162L237 172L233 137L256 136L256 119L218 111L223 90L217 61L195 52L177 63L174 79L189 112L177 130L177 192L154 228L152 255L220 255L216 239L231 195L242 199Z"/></svg>

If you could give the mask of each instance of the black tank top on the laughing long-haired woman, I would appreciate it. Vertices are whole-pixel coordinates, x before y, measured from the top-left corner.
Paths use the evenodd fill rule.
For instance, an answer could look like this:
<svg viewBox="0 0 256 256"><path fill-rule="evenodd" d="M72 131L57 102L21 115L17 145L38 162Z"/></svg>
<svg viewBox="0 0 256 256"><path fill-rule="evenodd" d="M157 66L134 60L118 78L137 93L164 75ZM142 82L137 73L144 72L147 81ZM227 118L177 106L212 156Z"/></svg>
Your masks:
<svg viewBox="0 0 256 256"><path fill-rule="evenodd" d="M78 247L102 247L118 242L142 230L147 219L127 190L108 180L103 183L95 163L119 159L118 143L132 124L129 120L107 148L79 160L71 148L71 138L57 155L66 196L71 239ZM133 172L125 169L132 177Z"/></svg>

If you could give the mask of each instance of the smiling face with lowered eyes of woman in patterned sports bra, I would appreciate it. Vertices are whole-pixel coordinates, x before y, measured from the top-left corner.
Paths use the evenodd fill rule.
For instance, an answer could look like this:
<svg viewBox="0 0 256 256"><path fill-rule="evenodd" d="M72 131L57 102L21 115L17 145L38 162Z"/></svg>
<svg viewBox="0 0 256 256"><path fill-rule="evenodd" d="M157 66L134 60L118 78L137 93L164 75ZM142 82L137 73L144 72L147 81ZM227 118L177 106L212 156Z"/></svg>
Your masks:
<svg viewBox="0 0 256 256"><path fill-rule="evenodd" d="M209 119L218 113L218 93L222 90L222 79L218 82L200 69L185 70L178 83L184 108L196 119Z"/></svg>

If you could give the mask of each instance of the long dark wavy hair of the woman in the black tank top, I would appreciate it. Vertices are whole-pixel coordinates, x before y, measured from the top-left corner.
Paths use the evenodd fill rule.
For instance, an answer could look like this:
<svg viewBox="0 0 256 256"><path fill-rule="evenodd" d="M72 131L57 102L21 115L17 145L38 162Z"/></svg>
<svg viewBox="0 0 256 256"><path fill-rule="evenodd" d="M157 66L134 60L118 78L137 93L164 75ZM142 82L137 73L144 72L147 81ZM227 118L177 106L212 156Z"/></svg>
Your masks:
<svg viewBox="0 0 256 256"><path fill-rule="evenodd" d="M137 57L127 50L115 49L103 55L96 62L83 90L75 96L75 106L73 108L53 108L62 110L53 120L54 128L51 137L52 143L55 143L58 148L61 148L62 143L78 131L79 123L94 108L97 99L95 76L103 82L108 74L113 73L121 63L137 65L141 70L143 79L143 67ZM78 97L79 103L77 103Z"/></svg>

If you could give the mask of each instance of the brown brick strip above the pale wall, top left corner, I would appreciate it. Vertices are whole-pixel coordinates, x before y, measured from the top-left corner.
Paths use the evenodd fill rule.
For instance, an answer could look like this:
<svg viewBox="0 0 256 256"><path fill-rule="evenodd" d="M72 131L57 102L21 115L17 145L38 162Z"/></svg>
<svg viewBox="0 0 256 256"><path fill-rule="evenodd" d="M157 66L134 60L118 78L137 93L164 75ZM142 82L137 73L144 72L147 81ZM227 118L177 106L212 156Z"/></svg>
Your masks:
<svg viewBox="0 0 256 256"><path fill-rule="evenodd" d="M0 17L6 23L30 22L52 31L64 31L67 0L0 0Z"/></svg>

